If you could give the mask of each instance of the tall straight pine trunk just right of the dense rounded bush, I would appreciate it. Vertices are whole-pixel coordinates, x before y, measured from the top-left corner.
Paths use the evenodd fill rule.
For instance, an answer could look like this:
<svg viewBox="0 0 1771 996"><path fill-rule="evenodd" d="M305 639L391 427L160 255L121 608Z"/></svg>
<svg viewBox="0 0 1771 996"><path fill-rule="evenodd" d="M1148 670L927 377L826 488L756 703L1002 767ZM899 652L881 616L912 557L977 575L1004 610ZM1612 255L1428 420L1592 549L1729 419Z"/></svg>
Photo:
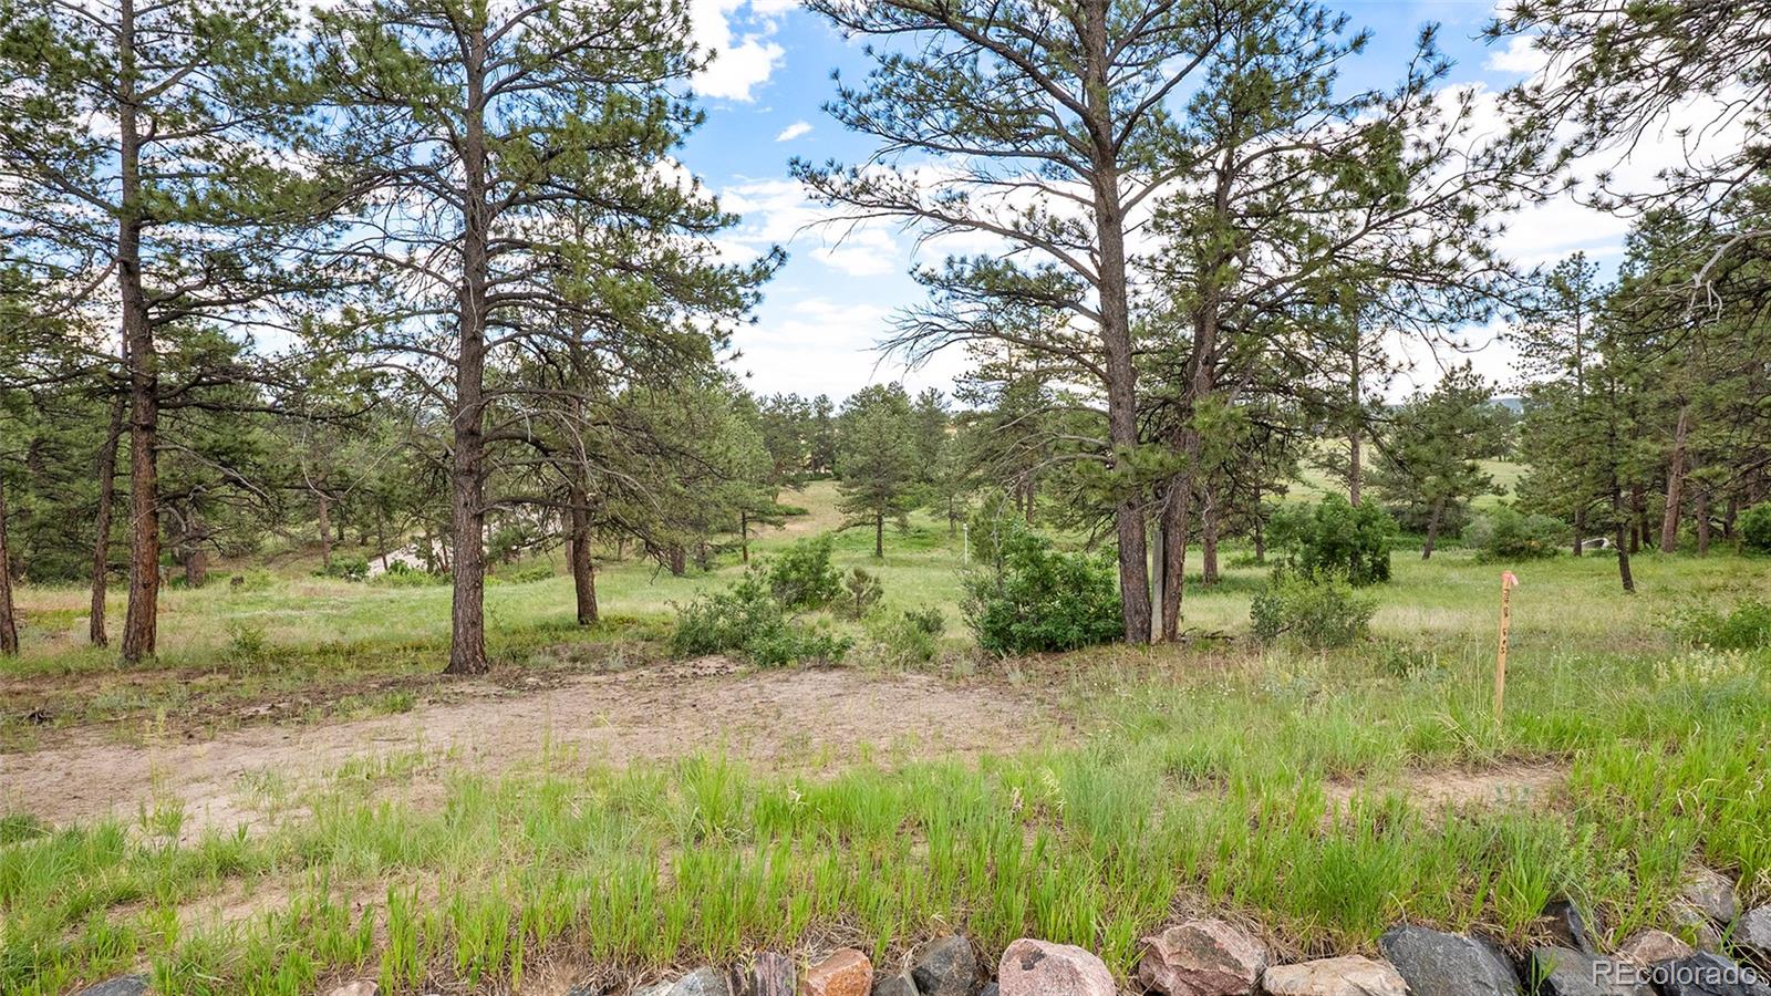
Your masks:
<svg viewBox="0 0 1771 996"><path fill-rule="evenodd" d="M1098 248L1096 296L1098 331L1103 353L1103 388L1107 392L1107 441L1114 450L1114 470L1132 477L1132 452L1137 448L1137 367L1132 362L1132 314L1125 262L1125 206L1119 197L1119 151L1114 136L1110 85L1107 80L1107 2L1082 5L1082 71L1087 76L1086 128L1091 144L1091 193ZM1126 643L1149 642L1149 567L1146 556L1144 509L1130 487L1114 505L1119 539L1119 606L1125 613Z"/></svg>

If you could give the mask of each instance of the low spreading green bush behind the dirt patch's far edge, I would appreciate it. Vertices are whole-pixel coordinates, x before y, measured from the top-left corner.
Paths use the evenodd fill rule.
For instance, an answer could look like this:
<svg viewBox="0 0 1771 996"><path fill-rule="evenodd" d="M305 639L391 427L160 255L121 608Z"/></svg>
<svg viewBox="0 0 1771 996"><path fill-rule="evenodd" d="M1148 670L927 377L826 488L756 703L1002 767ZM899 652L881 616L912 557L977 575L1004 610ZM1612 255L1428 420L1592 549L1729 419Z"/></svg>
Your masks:
<svg viewBox="0 0 1771 996"><path fill-rule="evenodd" d="M678 656L737 654L758 666L843 659L850 640L806 626L774 597L769 578L749 569L724 592L677 608L671 650Z"/></svg>

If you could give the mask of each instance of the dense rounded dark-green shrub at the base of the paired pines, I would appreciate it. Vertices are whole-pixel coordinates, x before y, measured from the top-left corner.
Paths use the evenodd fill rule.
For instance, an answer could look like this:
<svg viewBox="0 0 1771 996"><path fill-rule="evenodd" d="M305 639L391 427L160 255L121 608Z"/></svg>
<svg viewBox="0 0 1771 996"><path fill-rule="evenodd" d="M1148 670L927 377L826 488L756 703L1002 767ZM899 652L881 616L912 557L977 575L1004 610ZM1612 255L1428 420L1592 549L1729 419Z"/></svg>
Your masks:
<svg viewBox="0 0 1771 996"><path fill-rule="evenodd" d="M1017 519L988 525L990 558L965 576L965 622L995 654L1075 650L1125 636L1114 569L1061 553ZM983 544L981 544L983 546Z"/></svg>

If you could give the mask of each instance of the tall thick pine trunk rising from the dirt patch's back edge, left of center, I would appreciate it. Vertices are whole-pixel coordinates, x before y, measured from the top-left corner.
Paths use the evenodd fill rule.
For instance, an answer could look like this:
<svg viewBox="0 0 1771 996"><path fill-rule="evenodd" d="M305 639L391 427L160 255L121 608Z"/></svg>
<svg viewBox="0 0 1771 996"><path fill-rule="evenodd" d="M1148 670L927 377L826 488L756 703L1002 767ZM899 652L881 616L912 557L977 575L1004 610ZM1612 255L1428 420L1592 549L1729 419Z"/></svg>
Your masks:
<svg viewBox="0 0 1771 996"><path fill-rule="evenodd" d="M491 237L485 149L485 23L469 28L468 108L462 129L460 344L455 356L455 447L450 463L450 523L455 539L453 601L446 673L483 673L485 658L485 321Z"/></svg>

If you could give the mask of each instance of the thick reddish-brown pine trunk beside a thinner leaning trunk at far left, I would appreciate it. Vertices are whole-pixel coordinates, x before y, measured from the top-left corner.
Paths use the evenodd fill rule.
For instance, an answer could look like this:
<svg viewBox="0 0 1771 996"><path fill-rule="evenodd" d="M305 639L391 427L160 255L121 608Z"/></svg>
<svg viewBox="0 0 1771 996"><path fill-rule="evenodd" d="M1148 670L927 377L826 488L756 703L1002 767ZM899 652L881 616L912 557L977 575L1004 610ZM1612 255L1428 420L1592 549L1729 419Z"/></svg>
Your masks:
<svg viewBox="0 0 1771 996"><path fill-rule="evenodd" d="M135 80L135 0L119 4L120 78ZM122 624L122 659L154 656L159 638L159 356L142 287L142 136L133 94L117 105L117 291L124 356L129 365L129 611Z"/></svg>

